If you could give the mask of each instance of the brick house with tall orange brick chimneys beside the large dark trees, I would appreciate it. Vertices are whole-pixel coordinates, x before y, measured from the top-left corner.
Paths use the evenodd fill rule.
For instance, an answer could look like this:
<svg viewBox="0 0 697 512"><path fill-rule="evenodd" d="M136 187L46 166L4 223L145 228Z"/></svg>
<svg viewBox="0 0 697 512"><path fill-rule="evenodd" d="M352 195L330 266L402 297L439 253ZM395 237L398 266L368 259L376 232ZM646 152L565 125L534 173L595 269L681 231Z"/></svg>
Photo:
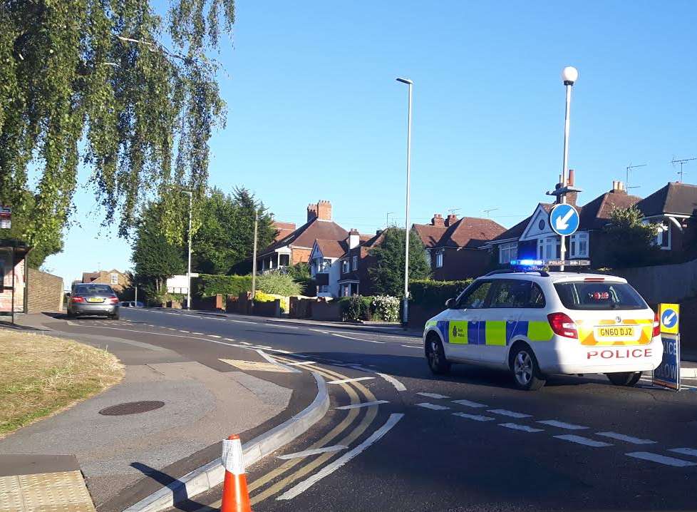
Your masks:
<svg viewBox="0 0 697 512"><path fill-rule="evenodd" d="M331 203L319 201L307 207L307 222L295 228L291 222L277 223L277 240L259 251L257 270L269 272L299 262L309 262L315 240L345 240L349 235L331 220ZM285 236L282 236L285 235Z"/></svg>

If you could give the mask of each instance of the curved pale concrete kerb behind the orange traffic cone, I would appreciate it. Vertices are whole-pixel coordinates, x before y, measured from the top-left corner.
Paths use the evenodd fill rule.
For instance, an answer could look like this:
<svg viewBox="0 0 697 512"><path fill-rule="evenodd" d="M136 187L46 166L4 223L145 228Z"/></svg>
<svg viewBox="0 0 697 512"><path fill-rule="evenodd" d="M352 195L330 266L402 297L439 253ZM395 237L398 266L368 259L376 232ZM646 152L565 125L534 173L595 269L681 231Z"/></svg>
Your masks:
<svg viewBox="0 0 697 512"><path fill-rule="evenodd" d="M329 410L329 393L326 389L326 382L320 374L312 372L312 375L317 384L317 394L312 403L292 418L242 445L245 466L251 466L264 456L288 444L324 417L326 411ZM167 487L143 498L138 503L126 508L124 512L159 512L165 510L165 508L170 508L176 503L220 485L224 476L225 469L220 459L215 459L215 461L187 473Z"/></svg>

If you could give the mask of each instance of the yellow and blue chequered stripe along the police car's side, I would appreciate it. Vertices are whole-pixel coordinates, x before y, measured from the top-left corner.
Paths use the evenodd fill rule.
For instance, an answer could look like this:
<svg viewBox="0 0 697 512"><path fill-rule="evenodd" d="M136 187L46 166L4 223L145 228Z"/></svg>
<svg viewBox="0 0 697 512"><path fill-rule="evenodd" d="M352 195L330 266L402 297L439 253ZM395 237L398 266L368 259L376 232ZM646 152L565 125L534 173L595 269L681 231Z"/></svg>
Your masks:
<svg viewBox="0 0 697 512"><path fill-rule="evenodd" d="M429 322L431 323L431 322ZM426 327L433 327L427 324ZM549 322L506 320L438 320L435 327L446 343L505 347L517 336L531 342L548 342L554 333Z"/></svg>

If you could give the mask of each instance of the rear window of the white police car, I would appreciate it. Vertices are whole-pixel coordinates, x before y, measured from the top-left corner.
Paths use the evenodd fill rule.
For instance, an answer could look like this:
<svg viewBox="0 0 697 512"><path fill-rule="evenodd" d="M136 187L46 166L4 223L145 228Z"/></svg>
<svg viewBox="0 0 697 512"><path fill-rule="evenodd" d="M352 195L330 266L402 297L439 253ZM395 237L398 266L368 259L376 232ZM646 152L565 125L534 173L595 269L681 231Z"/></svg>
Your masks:
<svg viewBox="0 0 697 512"><path fill-rule="evenodd" d="M634 288L624 282L557 282L559 299L567 309L645 309Z"/></svg>

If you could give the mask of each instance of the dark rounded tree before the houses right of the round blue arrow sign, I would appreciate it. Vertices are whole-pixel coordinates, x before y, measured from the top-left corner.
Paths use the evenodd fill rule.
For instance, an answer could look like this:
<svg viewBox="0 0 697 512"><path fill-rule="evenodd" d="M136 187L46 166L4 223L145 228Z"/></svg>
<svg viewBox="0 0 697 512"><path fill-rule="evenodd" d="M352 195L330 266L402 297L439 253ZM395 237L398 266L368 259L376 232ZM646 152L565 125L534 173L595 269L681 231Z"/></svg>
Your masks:
<svg viewBox="0 0 697 512"><path fill-rule="evenodd" d="M604 227L606 242L606 265L631 267L655 262L660 249L656 246L656 231L659 226L642 221L639 208L614 208L610 222Z"/></svg>

